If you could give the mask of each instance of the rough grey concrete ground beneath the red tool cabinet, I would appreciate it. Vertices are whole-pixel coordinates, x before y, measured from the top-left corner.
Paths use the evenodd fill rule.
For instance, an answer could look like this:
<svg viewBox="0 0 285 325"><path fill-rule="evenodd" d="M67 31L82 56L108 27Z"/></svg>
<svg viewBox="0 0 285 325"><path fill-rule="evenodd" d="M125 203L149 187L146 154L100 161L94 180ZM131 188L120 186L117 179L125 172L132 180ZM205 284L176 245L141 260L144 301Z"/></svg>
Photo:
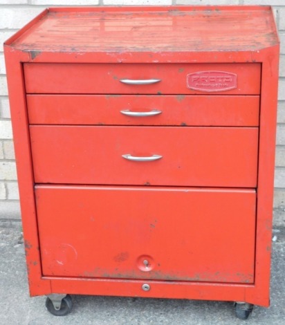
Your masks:
<svg viewBox="0 0 285 325"><path fill-rule="evenodd" d="M55 317L45 297L28 296L19 221L0 221L0 324L2 325L148 325L285 324L285 230L275 229L271 306L254 308L247 321L235 317L231 302L73 296L73 310Z"/></svg>

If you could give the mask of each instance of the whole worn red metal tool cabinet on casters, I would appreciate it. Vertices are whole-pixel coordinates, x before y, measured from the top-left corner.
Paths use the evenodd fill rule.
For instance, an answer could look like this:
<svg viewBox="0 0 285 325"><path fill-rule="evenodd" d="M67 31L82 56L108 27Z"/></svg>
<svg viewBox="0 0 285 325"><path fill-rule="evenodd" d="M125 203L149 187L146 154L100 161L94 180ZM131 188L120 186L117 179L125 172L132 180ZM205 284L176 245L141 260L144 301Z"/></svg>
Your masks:
<svg viewBox="0 0 285 325"><path fill-rule="evenodd" d="M8 39L30 295L268 306L278 53L266 6L50 8Z"/></svg>

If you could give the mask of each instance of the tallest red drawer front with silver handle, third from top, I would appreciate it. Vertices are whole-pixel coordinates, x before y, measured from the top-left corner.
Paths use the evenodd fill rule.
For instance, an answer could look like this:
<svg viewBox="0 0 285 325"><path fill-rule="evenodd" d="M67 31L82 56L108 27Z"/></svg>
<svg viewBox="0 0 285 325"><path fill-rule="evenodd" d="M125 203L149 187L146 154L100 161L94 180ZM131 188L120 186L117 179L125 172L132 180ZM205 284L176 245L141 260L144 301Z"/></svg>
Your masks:
<svg viewBox="0 0 285 325"><path fill-rule="evenodd" d="M34 125L30 139L36 183L212 187L257 183L257 128ZM132 161L122 155L162 158Z"/></svg>

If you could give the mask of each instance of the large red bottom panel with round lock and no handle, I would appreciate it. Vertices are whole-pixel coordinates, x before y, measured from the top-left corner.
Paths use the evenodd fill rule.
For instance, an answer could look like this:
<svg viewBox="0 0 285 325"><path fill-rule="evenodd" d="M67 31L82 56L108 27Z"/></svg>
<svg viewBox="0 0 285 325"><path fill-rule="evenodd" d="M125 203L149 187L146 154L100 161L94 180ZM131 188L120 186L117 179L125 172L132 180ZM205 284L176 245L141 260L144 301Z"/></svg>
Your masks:
<svg viewBox="0 0 285 325"><path fill-rule="evenodd" d="M46 276L253 283L253 189L37 185Z"/></svg>

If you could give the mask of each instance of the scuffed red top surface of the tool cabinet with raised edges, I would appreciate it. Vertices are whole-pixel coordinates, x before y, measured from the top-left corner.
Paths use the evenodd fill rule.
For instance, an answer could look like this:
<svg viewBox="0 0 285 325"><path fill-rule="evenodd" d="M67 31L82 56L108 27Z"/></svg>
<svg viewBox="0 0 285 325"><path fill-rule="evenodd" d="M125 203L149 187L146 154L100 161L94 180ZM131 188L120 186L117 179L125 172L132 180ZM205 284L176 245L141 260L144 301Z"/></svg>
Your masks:
<svg viewBox="0 0 285 325"><path fill-rule="evenodd" d="M24 51L256 51L278 44L268 6L50 8L11 37Z"/></svg>

